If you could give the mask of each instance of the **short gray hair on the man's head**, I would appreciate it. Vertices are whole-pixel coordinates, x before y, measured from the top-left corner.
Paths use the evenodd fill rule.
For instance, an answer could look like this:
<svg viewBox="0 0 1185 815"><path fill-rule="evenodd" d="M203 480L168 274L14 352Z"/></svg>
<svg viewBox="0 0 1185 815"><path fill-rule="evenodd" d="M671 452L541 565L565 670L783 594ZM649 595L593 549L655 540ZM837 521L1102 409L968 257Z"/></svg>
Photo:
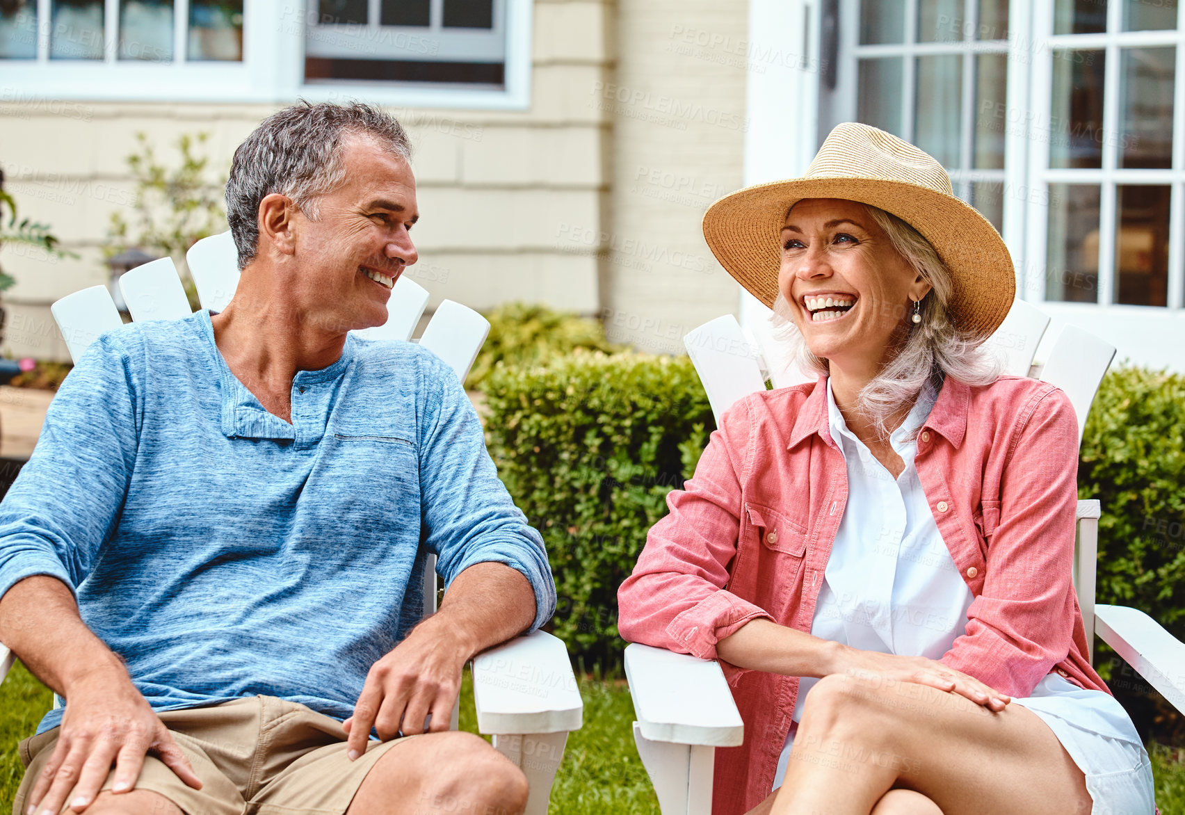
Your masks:
<svg viewBox="0 0 1185 815"><path fill-rule="evenodd" d="M255 259L264 197L287 195L306 217L316 220L318 198L345 180L345 134L370 136L404 161L411 159L403 126L359 102L309 104L302 100L268 116L238 146L226 181L226 220L238 249L239 269Z"/></svg>

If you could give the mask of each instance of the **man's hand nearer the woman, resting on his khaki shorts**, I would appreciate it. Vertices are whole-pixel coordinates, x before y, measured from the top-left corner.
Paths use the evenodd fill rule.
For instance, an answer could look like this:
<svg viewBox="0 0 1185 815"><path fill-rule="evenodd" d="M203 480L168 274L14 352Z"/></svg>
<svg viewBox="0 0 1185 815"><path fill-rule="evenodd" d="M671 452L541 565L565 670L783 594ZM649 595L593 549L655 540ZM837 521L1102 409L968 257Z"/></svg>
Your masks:
<svg viewBox="0 0 1185 815"><path fill-rule="evenodd" d="M434 625L430 617L391 653L371 666L366 684L354 705L354 714L342 723L350 733L351 759L366 750L371 727L384 742L402 731L404 736L428 730L448 730L453 705L461 693L461 669L472 656L447 627Z"/></svg>

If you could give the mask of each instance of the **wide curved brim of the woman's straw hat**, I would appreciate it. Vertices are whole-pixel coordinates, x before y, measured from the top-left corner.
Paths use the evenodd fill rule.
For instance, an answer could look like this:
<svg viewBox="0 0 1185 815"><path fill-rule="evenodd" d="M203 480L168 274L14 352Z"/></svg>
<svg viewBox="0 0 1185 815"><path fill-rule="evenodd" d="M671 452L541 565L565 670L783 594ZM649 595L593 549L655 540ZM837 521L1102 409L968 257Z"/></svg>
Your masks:
<svg viewBox="0 0 1185 815"><path fill-rule="evenodd" d="M738 190L704 213L704 238L720 265L766 306L777 299L781 230L805 198L841 198L897 216L924 237L950 270L948 310L966 336L986 339L1016 300L1012 257L1000 233L954 195L883 178L808 178Z"/></svg>

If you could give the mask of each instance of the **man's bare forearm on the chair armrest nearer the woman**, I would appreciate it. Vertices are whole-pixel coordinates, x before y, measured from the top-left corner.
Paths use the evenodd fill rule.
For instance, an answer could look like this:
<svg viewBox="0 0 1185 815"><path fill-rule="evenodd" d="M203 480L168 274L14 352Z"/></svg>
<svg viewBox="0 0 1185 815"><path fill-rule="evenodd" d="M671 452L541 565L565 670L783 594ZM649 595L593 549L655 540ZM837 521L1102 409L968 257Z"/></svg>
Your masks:
<svg viewBox="0 0 1185 815"><path fill-rule="evenodd" d="M525 631L534 611L534 590L521 572L501 563L479 563L456 576L440 611L417 628L456 637L470 659Z"/></svg>

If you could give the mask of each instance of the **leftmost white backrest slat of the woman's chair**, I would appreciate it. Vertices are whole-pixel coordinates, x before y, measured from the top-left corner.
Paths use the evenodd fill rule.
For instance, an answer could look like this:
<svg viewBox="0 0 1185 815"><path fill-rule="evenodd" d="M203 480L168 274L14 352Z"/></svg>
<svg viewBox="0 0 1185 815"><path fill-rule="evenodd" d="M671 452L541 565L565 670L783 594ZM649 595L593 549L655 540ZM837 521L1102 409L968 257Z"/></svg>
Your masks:
<svg viewBox="0 0 1185 815"><path fill-rule="evenodd" d="M766 390L750 339L731 314L705 322L684 336L683 342L707 392L717 425L734 403Z"/></svg>

